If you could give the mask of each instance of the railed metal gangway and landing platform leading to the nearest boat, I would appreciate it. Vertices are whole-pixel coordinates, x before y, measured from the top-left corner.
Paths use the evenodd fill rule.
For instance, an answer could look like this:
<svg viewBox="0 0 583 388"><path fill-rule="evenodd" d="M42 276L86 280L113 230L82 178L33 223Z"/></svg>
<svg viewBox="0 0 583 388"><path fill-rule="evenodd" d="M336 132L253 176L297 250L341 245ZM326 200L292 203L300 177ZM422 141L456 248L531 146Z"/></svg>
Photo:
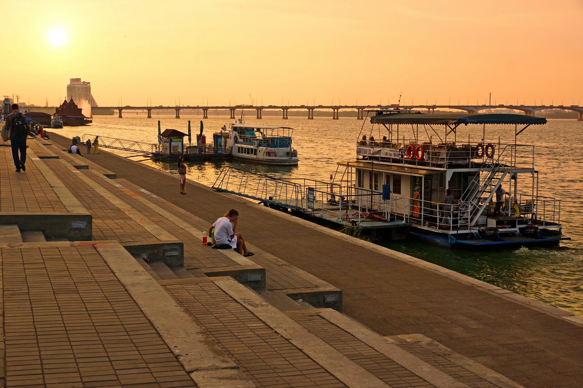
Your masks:
<svg viewBox="0 0 583 388"><path fill-rule="evenodd" d="M390 217L389 200L382 200L382 193L355 190L349 183L280 179L224 167L212 187L314 222L366 230L374 239L387 231L392 239L403 239L410 227L410 223Z"/></svg>

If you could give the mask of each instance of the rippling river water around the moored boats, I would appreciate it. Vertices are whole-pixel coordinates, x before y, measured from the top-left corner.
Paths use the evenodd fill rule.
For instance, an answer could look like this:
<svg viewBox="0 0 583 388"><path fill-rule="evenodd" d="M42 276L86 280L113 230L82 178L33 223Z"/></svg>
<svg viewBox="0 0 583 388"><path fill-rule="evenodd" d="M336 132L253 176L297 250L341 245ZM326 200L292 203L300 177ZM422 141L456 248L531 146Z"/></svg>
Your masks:
<svg viewBox="0 0 583 388"><path fill-rule="evenodd" d="M154 116L147 119L145 115L132 116L128 113L127 118L123 119L97 116L90 126L52 131L68 137L97 134L157 143L157 120L160 120L162 130L173 128L184 133L187 133L188 120L191 120L194 139L201 117L174 119L172 116ZM207 139L210 141L212 133L230 121L227 116L209 116L203 120ZM370 131L370 123L355 118L307 120L306 117L290 116L289 120L282 120L265 116L263 120L255 120L251 116L245 121L293 127L293 144L300 158L298 166L265 166L236 161L190 162L189 179L212 186L224 166L237 166L275 177L307 177L327 181L329 175L336 172L337 162L355 158L356 139L363 124L366 133ZM467 139L472 131L476 134L472 138L481 137L481 126L468 126L459 128L458 139ZM514 127L511 126L490 126L487 133L487 138L500 136L503 142L504 139L514 141ZM578 149L583 145L583 122L549 120L544 126L526 129L519 136L518 143L535 145L539 195L561 200L563 233L573 240L553 249L519 248L489 252L449 250L415 241L388 243L385 246L583 316L583 152ZM124 156L132 155L124 151L111 151ZM177 173L175 163L149 160L141 163Z"/></svg>

